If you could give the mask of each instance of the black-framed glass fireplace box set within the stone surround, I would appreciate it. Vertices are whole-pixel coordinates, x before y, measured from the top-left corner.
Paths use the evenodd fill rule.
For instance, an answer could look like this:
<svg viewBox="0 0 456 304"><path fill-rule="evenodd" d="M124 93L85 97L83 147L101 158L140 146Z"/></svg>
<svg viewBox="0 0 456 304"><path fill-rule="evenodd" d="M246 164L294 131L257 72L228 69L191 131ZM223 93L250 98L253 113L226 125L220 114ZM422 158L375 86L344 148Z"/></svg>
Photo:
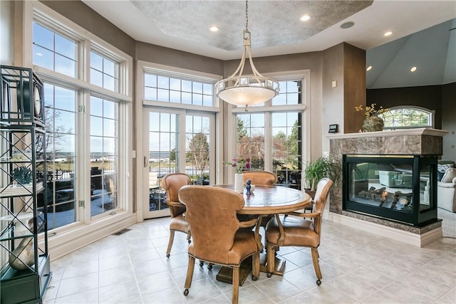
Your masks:
<svg viewBox="0 0 456 304"><path fill-rule="evenodd" d="M411 226L437 221L437 156L343 154L342 209Z"/></svg>

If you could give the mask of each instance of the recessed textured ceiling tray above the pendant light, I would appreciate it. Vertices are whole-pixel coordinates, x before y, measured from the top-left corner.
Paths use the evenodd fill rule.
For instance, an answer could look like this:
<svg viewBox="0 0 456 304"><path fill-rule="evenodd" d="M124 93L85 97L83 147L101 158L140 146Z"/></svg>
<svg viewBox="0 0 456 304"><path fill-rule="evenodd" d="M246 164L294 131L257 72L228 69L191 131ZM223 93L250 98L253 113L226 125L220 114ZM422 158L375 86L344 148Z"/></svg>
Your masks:
<svg viewBox="0 0 456 304"><path fill-rule="evenodd" d="M226 51L242 49L242 31L246 26L244 1L131 2L165 35ZM372 2L249 1L248 25L254 43L252 48L302 43L365 9ZM304 14L312 16L313 21L299 21ZM217 26L219 32L210 32L209 25Z"/></svg>

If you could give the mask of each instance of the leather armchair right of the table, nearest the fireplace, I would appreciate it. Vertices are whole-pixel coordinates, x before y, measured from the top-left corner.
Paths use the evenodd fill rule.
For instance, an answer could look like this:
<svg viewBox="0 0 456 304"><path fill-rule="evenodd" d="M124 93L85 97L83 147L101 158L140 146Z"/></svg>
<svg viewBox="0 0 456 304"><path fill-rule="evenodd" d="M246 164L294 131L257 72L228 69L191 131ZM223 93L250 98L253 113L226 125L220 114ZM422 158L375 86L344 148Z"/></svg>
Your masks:
<svg viewBox="0 0 456 304"><path fill-rule="evenodd" d="M276 214L266 225L266 260L268 277L274 271L274 253L281 246L310 247L312 262L316 274L316 285L321 284L321 270L318 263L318 246L320 246L321 221L323 210L329 196L333 181L328 178L320 179L317 184L314 199L314 211L311 213L289 212L282 220ZM278 249L277 249L278 250Z"/></svg>

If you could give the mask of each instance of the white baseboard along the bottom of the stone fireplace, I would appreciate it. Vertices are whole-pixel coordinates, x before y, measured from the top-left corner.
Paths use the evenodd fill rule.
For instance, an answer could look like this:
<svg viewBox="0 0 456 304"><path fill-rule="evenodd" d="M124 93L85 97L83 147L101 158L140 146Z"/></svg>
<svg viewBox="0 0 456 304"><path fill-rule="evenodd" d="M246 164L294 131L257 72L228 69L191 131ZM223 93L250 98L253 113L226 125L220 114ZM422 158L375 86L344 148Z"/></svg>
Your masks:
<svg viewBox="0 0 456 304"><path fill-rule="evenodd" d="M423 247L433 241L442 239L442 227L438 227L431 231L427 231L424 234L413 234L408 231L395 229L380 224L371 223L370 221L363 221L361 219L355 219L350 216L343 216L333 212L329 213L327 218L329 221L334 223L343 224L355 229L370 232L371 234L377 234L388 239L408 243L413 246Z"/></svg>

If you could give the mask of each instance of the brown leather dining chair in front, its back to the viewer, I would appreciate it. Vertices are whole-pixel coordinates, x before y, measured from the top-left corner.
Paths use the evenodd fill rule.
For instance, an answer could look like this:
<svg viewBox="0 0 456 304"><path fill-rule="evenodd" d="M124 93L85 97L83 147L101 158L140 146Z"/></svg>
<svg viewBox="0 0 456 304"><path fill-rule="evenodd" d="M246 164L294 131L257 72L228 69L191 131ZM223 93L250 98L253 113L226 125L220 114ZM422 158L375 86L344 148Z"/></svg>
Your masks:
<svg viewBox="0 0 456 304"><path fill-rule="evenodd" d="M258 219L239 222L237 211L244 207L244 197L231 189L185 186L180 189L179 199L187 207L185 219L192 231L184 295L189 293L195 259L199 258L233 268L232 303L238 303L241 262L252 256L252 280L259 276L261 241L254 231L243 229L254 226Z"/></svg>

